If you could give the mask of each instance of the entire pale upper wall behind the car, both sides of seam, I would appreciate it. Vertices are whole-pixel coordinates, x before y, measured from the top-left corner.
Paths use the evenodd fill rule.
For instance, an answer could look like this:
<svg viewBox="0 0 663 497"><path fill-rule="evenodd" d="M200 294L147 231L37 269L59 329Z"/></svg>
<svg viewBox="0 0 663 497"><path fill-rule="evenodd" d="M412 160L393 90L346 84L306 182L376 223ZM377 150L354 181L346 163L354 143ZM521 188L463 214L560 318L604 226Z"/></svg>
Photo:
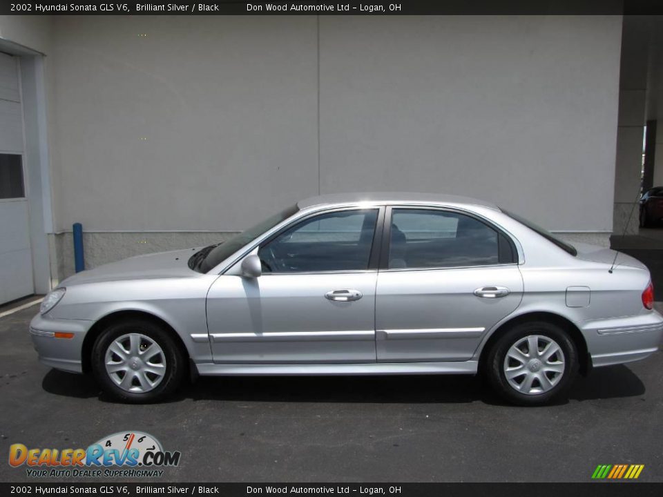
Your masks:
<svg viewBox="0 0 663 497"><path fill-rule="evenodd" d="M441 191L610 231L620 17L57 17L57 229ZM140 36L146 34L146 37Z"/></svg>

